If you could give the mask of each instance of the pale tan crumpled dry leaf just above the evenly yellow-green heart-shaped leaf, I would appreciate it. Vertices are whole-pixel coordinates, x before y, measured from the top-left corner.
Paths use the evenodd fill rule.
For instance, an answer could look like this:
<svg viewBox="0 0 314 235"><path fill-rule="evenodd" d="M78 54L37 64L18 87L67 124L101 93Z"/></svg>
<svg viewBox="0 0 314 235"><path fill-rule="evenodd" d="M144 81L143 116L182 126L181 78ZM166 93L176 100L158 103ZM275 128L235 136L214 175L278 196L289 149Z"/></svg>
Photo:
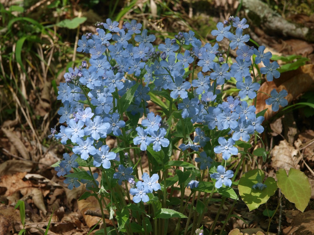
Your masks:
<svg viewBox="0 0 314 235"><path fill-rule="evenodd" d="M279 145L276 145L270 154L272 156L273 168L284 168L287 173L290 168L300 169L300 166L297 165L297 158L295 157L296 154L298 154L298 150L291 146L286 140L280 141Z"/></svg>

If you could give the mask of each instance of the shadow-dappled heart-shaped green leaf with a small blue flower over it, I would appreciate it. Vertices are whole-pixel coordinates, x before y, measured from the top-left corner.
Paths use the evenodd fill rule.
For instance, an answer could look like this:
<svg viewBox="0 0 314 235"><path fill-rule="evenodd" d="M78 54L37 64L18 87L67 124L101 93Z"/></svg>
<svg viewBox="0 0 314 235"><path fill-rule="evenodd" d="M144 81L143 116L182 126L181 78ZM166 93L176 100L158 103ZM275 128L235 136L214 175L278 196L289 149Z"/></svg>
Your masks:
<svg viewBox="0 0 314 235"><path fill-rule="evenodd" d="M257 172L257 169L250 170L243 174L239 180L239 194L249 208L249 211L257 209L260 205L266 203L270 196L273 196L277 190L277 184L273 177L268 177L265 180L264 184L267 188L264 188L262 191L259 189L252 189L252 186L257 184ZM262 170L259 170L259 175L263 181L265 174Z"/></svg>

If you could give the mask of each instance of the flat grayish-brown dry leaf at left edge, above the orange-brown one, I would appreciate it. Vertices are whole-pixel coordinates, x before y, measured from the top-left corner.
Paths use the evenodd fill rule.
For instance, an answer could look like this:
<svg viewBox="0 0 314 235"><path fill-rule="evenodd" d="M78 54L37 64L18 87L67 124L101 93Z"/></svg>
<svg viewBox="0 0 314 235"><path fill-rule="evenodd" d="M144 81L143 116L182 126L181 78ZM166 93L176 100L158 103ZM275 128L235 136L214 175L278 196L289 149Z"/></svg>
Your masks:
<svg viewBox="0 0 314 235"><path fill-rule="evenodd" d="M12 175L16 172L30 172L33 168L33 163L23 160L7 160L0 164L0 176Z"/></svg>

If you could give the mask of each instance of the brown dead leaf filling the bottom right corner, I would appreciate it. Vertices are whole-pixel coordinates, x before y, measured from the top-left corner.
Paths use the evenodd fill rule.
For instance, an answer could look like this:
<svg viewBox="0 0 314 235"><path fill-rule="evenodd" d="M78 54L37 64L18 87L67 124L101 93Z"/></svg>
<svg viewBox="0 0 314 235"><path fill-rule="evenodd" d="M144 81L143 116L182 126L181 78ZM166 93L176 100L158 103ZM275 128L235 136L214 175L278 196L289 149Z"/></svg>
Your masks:
<svg viewBox="0 0 314 235"><path fill-rule="evenodd" d="M314 233L314 211L299 213L295 216L289 227L282 230L284 235L299 235Z"/></svg>

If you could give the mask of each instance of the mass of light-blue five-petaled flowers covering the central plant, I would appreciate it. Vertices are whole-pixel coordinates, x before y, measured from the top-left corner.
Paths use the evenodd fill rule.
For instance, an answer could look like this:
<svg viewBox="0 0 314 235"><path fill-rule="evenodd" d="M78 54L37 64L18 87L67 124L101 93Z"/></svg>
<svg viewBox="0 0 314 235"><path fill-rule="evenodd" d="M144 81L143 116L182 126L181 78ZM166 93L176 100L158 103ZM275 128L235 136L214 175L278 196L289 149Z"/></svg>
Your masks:
<svg viewBox="0 0 314 235"><path fill-rule="evenodd" d="M229 22L218 23L217 30L212 31L218 42L227 38L230 40L230 48L237 49L236 62L231 66L224 63L226 52L219 51L218 43L202 46L192 31L179 32L174 39L167 38L165 44L154 46L152 43L156 39L155 35L148 35L146 29L141 31L142 25L135 20L126 22L120 29L118 22L107 19L106 23L98 24L97 34L83 35L78 41L77 51L90 54L90 66L83 61L80 66L69 68L65 73L65 83L60 83L57 99L63 103L58 111L61 115L60 123L66 125L62 125L58 133L52 128L50 135L62 144L73 144L72 150L76 155L64 156L65 160L56 167L57 175L66 175L72 167L77 167L75 158L78 156L84 160L92 158L96 167L111 168L117 155L106 145L107 135L126 139L127 133L133 133L136 135L133 144L140 145L141 150L146 150L150 144L156 152L169 146L170 135L167 135L167 128L163 127L161 117L146 108L150 100L149 91L166 91L172 102L177 103L181 117L192 123L198 123L210 130L230 129L232 137L228 140L220 137L220 146L214 148L214 153L222 153L225 160L230 155L237 154L236 147L233 147L236 140L248 141L255 131L261 133L264 130L261 126L264 118L256 116L254 106L240 100L246 97L254 99L260 88L257 82L252 81L251 66L263 61L265 67L260 72L266 75L268 81L280 76L276 70L279 65L277 62L270 62L271 53L264 53L264 46L256 49L245 44L250 39L249 35L243 35L243 29L248 27L245 23L245 19L230 17ZM188 70L191 66L194 70L196 65L202 71L198 72L197 78L190 77L191 72ZM221 85L232 77L240 90L239 96L229 96L226 101L218 102L217 94L221 92ZM130 105L125 113L119 113L119 98L135 85L137 88ZM279 105L287 104L283 98L285 95L284 91L279 94L272 91L272 97L267 100L267 104L277 111ZM147 118L136 128L132 125L126 126L123 120L123 115L131 119L136 114L142 116L146 113ZM211 140L202 128L196 128L195 131L195 144L181 144L180 149L184 151L192 148L198 151ZM202 152L195 161L204 170L211 166L213 159ZM132 167L126 168L119 164L118 172L113 178L121 185L123 180L133 178L132 172ZM150 179L155 182L158 179L154 175ZM225 172L221 168L218 173L211 175L218 179L217 188L222 184L230 186L230 181L227 180L230 176L229 171ZM157 183L151 182L147 177L143 175L144 183L138 181L136 188L130 190L134 195L133 201L148 201L145 195L152 189L157 189ZM71 181L69 188L77 187L75 179L72 180L74 181ZM156 189L146 182L155 185ZM197 185L196 182L189 184L191 188Z"/></svg>

